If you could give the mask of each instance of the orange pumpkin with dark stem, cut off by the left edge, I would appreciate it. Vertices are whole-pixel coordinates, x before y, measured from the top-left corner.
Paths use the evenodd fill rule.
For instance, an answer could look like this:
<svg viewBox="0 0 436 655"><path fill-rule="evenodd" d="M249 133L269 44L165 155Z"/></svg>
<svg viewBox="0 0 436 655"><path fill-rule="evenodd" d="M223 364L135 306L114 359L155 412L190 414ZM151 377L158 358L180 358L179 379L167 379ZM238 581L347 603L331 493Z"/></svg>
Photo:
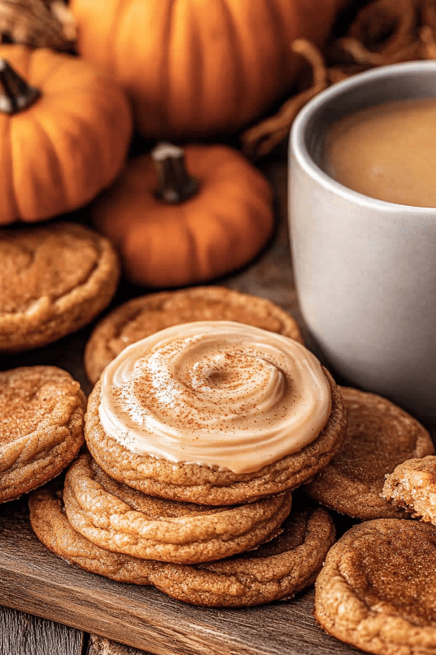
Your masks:
<svg viewBox="0 0 436 655"><path fill-rule="evenodd" d="M0 46L0 225L86 204L126 159L131 109L107 74L80 58Z"/></svg>

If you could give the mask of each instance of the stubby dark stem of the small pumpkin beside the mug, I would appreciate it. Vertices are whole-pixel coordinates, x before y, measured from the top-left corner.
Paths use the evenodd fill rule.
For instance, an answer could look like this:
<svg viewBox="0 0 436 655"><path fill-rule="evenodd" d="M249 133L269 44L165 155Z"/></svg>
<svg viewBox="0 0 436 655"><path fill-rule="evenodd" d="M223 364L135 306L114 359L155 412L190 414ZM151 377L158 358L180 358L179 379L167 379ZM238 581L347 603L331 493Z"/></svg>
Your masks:
<svg viewBox="0 0 436 655"><path fill-rule="evenodd" d="M197 193L199 182L186 171L182 148L171 143L158 143L152 150L152 158L158 175L155 194L159 200L177 204Z"/></svg>

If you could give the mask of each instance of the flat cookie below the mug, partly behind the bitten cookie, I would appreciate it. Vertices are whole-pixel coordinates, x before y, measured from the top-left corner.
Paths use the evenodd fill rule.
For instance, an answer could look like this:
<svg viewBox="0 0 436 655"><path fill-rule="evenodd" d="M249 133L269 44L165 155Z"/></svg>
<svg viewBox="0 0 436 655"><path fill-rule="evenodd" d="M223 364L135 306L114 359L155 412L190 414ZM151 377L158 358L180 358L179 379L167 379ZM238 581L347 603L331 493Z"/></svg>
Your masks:
<svg viewBox="0 0 436 655"><path fill-rule="evenodd" d="M381 497L384 476L411 457L434 453L431 438L416 419L375 394L340 387L348 427L339 455L305 487L331 510L359 519L407 514Z"/></svg>

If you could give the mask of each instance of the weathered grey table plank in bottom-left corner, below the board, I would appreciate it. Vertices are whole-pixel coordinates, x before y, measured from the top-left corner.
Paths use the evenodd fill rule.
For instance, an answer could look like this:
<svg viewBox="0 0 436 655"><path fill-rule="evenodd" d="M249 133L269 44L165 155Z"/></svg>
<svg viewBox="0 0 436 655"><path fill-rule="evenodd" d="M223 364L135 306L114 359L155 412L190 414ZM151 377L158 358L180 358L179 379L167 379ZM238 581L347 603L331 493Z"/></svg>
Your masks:
<svg viewBox="0 0 436 655"><path fill-rule="evenodd" d="M82 655L83 639L82 631L0 608L1 655Z"/></svg>

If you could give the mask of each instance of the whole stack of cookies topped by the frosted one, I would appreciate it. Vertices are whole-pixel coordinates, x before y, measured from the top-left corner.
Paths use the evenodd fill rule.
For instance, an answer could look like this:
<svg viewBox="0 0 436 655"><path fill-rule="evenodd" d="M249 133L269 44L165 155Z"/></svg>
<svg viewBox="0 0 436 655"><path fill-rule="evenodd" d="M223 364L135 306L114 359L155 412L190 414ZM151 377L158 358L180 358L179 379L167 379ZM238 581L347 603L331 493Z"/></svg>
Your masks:
<svg viewBox="0 0 436 655"><path fill-rule="evenodd" d="M46 491L31 498L33 529L88 570L114 577L122 562L129 582L188 602L290 597L313 582L334 539L313 504L283 524L290 491L344 433L335 383L296 341L229 321L167 327L105 368L86 418L94 459L81 456L65 479L67 523Z"/></svg>

